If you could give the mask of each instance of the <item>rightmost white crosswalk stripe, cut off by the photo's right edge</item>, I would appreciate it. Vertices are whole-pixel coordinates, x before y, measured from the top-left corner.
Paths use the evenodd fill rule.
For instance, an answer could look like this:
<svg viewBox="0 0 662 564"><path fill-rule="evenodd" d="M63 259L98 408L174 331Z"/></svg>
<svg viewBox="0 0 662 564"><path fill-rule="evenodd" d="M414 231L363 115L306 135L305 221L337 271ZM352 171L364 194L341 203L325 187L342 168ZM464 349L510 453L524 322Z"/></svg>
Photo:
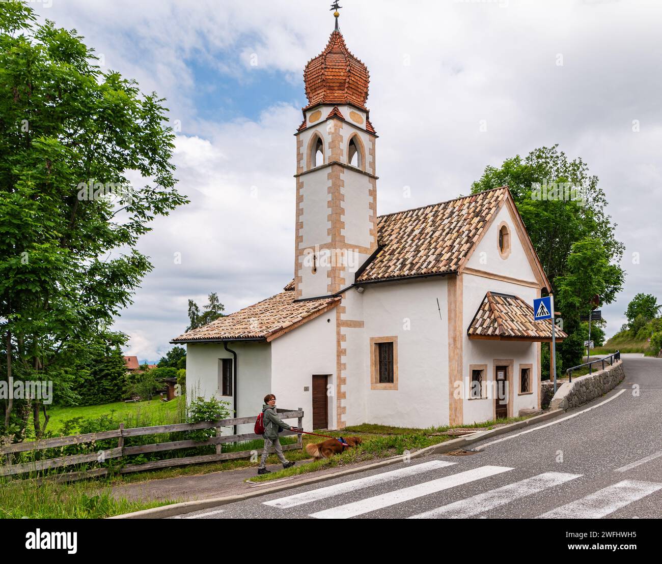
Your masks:
<svg viewBox="0 0 662 564"><path fill-rule="evenodd" d="M539 515L543 519L599 519L614 511L651 495L662 484L638 480L623 480L600 489L581 499L561 505Z"/></svg>

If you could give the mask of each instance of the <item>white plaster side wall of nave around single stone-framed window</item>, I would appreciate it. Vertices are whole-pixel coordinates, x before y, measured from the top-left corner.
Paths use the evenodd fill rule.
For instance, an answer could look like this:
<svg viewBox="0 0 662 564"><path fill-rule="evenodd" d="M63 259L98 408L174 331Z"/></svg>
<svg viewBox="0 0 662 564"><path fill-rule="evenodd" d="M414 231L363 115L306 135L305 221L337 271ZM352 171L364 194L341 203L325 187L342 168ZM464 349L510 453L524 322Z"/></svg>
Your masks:
<svg viewBox="0 0 662 564"><path fill-rule="evenodd" d="M366 422L416 427L448 424L446 278L366 284L362 296L364 374L362 382L353 382L365 390ZM410 329L406 329L407 320ZM398 389L371 389L369 339L390 335L398 337ZM348 378L348 387L349 383ZM353 393L350 387L348 397Z"/></svg>

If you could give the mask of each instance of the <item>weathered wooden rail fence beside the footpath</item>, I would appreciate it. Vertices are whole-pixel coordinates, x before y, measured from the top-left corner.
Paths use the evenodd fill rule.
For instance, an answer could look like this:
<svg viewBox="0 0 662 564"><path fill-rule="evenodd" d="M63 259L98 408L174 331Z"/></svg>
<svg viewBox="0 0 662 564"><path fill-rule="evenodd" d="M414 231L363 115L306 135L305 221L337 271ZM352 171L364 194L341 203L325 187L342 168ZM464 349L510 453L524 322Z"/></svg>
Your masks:
<svg viewBox="0 0 662 564"><path fill-rule="evenodd" d="M281 419L294 419L297 418L297 426L301 428L303 422L303 409L301 407L297 411L288 411L287 409L277 409L277 413ZM216 454L203 454L199 456L186 456L183 458L166 458L163 460L155 460L153 462L146 462L142 464L126 464L120 467L117 471L119 473L138 472L142 470L152 470L156 468L166 468L170 466L180 466L186 464L196 464L201 462L216 462L218 460L232 460L236 458L250 457L254 450L242 450L240 452L222 452L222 444L228 442L244 442L247 440L254 440L262 438L261 435L255 433L244 433L235 435L222 434L222 428L234 425L242 425L255 423L257 417L235 417L234 419L218 419L217 421L201 421L200 423L176 423L171 425L159 425L152 427L134 427L124 428L120 424L120 428L111 431L101 431L97 433L87 433L80 435L62 436L55 438L47 438L43 440L36 440L32 442L20 442L17 444L10 444L0 448L0 462L5 458L5 464L0 463L0 476L7 476L12 474L23 474L26 472L43 471L63 466L70 466L75 464L89 463L89 462L105 462L111 458L121 458L133 454L145 454L150 452L162 452L165 450L177 450L180 448L191 448L197 446L216 445ZM124 446L124 438L131 436L143 436L150 434L162 434L169 432L192 431L200 429L216 428L216 436L207 440L177 440L173 442L157 442L152 444L142 444L139 446ZM284 444L283 450L293 450L302 448L301 434L293 431L283 431L281 436L297 435L297 442L293 444ZM13 463L13 455L17 452L31 452L36 450L44 450L46 448L58 448L63 446L71 446L75 444L84 444L96 442L98 440L117 438L117 447L109 448L106 450L99 450L89 452L87 454L72 454L70 456L60 456L58 458L46 458L43 460L35 460L33 462ZM261 454L262 449L257 451ZM81 477L102 476L109 472L108 468L95 468L81 472L67 472L54 475L53 478L57 480L70 480L78 479Z"/></svg>

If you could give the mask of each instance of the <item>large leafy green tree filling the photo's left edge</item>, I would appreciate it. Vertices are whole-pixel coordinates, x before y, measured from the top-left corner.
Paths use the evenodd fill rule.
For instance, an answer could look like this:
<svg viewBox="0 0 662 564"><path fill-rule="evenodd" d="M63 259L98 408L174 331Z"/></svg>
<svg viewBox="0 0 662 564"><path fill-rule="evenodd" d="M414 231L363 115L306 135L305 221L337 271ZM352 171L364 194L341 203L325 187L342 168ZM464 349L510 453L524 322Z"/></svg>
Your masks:
<svg viewBox="0 0 662 564"><path fill-rule="evenodd" d="M95 60L75 30L0 3L0 368L71 397L76 359L117 335L113 317L152 268L140 235L187 202L163 99ZM37 430L46 406L32 405Z"/></svg>

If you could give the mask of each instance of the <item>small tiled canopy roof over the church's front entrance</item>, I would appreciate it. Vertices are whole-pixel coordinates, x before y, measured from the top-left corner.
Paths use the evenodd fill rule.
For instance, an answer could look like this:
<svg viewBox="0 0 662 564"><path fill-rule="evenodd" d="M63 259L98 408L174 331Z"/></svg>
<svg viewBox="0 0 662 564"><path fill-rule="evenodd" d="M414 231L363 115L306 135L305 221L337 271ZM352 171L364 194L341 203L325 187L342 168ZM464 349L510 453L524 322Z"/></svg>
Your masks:
<svg viewBox="0 0 662 564"><path fill-rule="evenodd" d="M551 341L551 321L534 321L534 308L518 296L487 292L467 328L469 337L488 339L540 339ZM560 329L556 339L567 337Z"/></svg>

